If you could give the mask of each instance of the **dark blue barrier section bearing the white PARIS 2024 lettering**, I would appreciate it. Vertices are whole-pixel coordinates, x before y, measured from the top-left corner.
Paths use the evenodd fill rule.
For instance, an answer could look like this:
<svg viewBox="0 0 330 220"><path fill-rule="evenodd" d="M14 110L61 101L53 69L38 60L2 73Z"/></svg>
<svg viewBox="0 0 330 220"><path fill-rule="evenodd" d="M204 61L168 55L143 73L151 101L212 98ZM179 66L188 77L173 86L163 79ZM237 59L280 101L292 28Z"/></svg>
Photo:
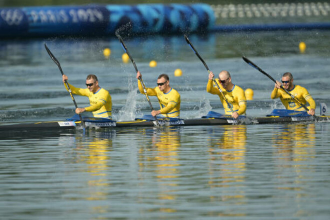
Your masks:
<svg viewBox="0 0 330 220"><path fill-rule="evenodd" d="M104 34L109 11L104 6L24 7L30 35Z"/></svg>

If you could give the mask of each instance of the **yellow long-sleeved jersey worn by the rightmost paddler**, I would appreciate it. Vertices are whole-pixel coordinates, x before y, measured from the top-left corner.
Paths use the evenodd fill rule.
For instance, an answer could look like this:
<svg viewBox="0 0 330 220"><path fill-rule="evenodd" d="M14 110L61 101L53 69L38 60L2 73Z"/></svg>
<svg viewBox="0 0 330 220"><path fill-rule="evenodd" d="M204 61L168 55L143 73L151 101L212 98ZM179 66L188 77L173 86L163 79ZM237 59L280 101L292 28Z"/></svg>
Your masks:
<svg viewBox="0 0 330 220"><path fill-rule="evenodd" d="M288 89L287 89L288 90ZM310 108L315 109L315 101L308 93L307 89L300 86L294 85L291 90L288 90L292 95L294 95L298 101L302 104L309 103ZM297 111L306 111L298 102L296 102L289 94L287 94L283 89L274 88L271 92L270 97L272 99L279 98L286 109L288 110L297 110Z"/></svg>

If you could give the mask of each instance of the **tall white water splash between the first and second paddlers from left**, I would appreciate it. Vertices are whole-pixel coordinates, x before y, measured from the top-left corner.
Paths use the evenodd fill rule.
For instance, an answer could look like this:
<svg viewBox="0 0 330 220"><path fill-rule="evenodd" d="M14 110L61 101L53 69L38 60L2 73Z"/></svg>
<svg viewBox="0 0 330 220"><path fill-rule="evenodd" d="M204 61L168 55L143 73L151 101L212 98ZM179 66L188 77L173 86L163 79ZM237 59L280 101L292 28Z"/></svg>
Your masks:
<svg viewBox="0 0 330 220"><path fill-rule="evenodd" d="M136 96L137 96L136 83L128 76L128 94L125 105L118 112L118 121L134 120L136 115Z"/></svg>

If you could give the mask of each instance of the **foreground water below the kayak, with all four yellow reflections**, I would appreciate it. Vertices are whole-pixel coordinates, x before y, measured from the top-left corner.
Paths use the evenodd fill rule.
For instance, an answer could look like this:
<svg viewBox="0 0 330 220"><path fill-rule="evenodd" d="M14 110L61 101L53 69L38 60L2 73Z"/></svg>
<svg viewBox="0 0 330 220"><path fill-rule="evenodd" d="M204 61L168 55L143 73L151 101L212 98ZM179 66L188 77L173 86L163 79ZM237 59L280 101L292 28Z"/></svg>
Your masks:
<svg viewBox="0 0 330 220"><path fill-rule="evenodd" d="M313 123L1 139L1 216L327 219L329 136Z"/></svg>

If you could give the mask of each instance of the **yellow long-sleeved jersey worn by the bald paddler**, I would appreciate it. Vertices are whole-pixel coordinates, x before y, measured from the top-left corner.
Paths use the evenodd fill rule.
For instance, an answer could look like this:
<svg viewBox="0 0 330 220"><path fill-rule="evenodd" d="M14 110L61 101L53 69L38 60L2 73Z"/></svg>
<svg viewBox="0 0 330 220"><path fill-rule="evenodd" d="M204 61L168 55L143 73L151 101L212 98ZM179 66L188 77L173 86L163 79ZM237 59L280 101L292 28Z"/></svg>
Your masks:
<svg viewBox="0 0 330 220"><path fill-rule="evenodd" d="M208 80L206 91L211 94L217 94L220 98L220 101L223 105L225 114L232 113L230 107L233 111L236 111L239 115L245 114L246 111L246 98L244 90L239 87L238 85L234 85L233 88L230 91L227 91L225 88L222 87L221 83L219 82L219 79L215 79L217 84L222 90L223 95L226 97L228 103L230 106L228 106L227 102L223 98L223 95L221 94L218 87L215 85L213 80Z"/></svg>

